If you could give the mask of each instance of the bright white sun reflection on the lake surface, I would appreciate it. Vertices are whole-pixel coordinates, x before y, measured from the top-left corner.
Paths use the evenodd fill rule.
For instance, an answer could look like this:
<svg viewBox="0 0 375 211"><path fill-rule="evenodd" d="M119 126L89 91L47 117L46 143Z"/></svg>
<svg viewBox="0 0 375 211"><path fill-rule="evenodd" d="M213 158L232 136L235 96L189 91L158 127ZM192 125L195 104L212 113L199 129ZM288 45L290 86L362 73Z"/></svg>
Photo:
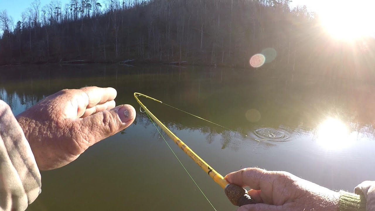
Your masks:
<svg viewBox="0 0 375 211"><path fill-rule="evenodd" d="M317 143L325 149L347 148L355 142L348 127L338 119L326 119L318 126Z"/></svg>

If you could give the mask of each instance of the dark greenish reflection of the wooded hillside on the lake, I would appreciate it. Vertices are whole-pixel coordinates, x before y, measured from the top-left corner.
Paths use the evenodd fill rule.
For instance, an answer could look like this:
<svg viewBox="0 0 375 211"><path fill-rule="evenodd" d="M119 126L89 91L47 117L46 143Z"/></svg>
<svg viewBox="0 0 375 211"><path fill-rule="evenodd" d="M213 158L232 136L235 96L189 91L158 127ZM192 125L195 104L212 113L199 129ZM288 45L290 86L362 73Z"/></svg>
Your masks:
<svg viewBox="0 0 375 211"><path fill-rule="evenodd" d="M10 68L10 69L9 69ZM14 108L30 107L45 96L64 88L83 86L115 87L117 104L139 108L133 92L141 92L179 109L193 113L238 133L196 119L163 104L141 99L168 128L199 130L208 143L220 140L223 148L246 140L256 127L285 125L291 130L312 131L327 115L352 123L352 130L374 133L375 86L363 82L335 80L327 85L323 79L304 80L288 76L267 78L236 69L175 68L170 66L124 67L121 65L82 65L7 67L0 77L0 97ZM53 71L52 71L53 70ZM2 70L0 70L1 72ZM263 75L264 74L264 75ZM223 75L223 76L222 76ZM245 113L257 109L259 122L248 122ZM138 115L134 124L148 127L147 116ZM355 125L355 126L354 126Z"/></svg>

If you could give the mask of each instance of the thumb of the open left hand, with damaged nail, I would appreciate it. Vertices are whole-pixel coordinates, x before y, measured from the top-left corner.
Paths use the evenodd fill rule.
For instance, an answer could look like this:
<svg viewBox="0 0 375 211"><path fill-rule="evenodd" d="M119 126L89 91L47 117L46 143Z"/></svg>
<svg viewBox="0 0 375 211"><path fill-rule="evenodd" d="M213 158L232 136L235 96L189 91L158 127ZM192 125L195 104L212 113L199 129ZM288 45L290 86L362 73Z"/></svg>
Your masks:
<svg viewBox="0 0 375 211"><path fill-rule="evenodd" d="M79 119L85 130L89 146L120 132L131 125L135 119L135 109L131 105L119 105L110 110Z"/></svg>

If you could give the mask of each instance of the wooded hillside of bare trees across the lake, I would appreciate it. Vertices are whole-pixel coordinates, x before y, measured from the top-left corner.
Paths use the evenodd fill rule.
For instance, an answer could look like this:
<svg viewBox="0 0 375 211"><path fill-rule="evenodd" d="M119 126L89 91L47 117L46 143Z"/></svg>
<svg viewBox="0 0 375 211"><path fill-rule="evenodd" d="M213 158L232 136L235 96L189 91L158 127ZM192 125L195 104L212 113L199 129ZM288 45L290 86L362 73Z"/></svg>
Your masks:
<svg viewBox="0 0 375 211"><path fill-rule="evenodd" d="M135 59L248 67L251 56L269 48L275 55L266 58L268 68L353 74L374 65L374 40L335 42L315 13L290 2L71 0L41 7L36 1L15 26L1 13L0 63Z"/></svg>

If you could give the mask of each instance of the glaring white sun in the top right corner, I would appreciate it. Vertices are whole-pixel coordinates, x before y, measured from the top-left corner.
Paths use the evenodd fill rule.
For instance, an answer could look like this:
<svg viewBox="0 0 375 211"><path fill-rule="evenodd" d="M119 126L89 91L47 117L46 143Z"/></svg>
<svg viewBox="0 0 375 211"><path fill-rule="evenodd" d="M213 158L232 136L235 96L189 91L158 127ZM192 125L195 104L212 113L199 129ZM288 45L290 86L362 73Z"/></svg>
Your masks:
<svg viewBox="0 0 375 211"><path fill-rule="evenodd" d="M374 0L326 1L319 17L326 31L336 39L353 41L375 35Z"/></svg>

